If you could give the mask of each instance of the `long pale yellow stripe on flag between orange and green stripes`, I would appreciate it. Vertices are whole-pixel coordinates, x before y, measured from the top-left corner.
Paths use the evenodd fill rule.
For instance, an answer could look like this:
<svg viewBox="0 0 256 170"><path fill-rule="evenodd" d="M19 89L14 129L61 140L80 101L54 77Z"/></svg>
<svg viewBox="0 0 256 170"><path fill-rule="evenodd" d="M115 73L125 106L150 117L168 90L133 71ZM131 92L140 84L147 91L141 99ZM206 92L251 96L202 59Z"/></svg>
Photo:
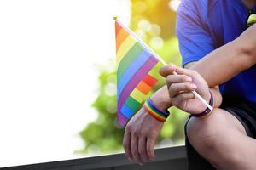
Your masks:
<svg viewBox="0 0 256 170"><path fill-rule="evenodd" d="M123 59L125 54L132 48L132 46L136 42L137 41L133 37L126 37L125 41L120 45L117 52L117 65L119 65L120 61Z"/></svg>

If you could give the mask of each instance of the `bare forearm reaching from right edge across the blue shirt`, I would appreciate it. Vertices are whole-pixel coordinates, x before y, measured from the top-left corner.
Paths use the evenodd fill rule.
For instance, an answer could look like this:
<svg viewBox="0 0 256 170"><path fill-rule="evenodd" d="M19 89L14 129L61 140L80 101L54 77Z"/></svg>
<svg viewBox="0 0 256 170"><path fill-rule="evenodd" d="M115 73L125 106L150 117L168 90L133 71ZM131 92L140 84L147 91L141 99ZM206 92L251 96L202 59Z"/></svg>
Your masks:
<svg viewBox="0 0 256 170"><path fill-rule="evenodd" d="M228 81L241 71L256 63L256 25L250 27L236 38L212 53L189 69L198 71L209 87Z"/></svg>

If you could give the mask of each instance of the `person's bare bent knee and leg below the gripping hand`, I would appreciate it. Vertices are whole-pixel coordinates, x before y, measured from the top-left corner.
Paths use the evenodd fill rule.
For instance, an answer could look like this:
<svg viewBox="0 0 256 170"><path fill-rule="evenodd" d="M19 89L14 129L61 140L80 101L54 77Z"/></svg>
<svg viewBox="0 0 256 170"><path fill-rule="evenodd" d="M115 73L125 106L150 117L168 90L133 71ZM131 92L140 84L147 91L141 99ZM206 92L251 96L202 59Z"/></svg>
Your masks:
<svg viewBox="0 0 256 170"><path fill-rule="evenodd" d="M227 111L215 109L207 118L192 117L187 126L189 142L218 169L248 169L256 166L256 140Z"/></svg>

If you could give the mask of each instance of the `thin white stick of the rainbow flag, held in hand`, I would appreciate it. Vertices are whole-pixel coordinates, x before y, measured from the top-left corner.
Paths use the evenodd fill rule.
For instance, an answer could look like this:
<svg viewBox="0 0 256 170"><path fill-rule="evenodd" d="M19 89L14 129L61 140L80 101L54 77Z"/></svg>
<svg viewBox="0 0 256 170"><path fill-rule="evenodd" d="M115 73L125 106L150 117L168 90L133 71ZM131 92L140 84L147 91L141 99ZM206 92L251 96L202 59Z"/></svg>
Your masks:
<svg viewBox="0 0 256 170"><path fill-rule="evenodd" d="M143 45L143 48L148 49L148 51L149 51L150 53L154 54L154 57L157 58L157 59L159 59L160 62L161 62L163 65L167 65L166 61L165 61L164 59L160 58L160 56L159 56L158 54L155 54L154 51L153 51L151 48L149 48L148 45L147 45L145 42L143 42L143 40L142 40L140 37L137 37L137 35L136 35L135 33L133 33L133 31L130 30L130 28L124 26L121 22L119 22L117 16L114 16L114 17L113 17L113 20L115 20L116 22L118 22L120 26L122 26L122 27L123 27L126 31L128 31L133 37L135 37L135 38L137 39L137 41L140 42L140 43ZM175 71L173 72L173 74L174 74L174 75L177 75L177 73L176 73ZM209 104L207 103L207 101L201 97L200 94L198 94L197 92L195 92L195 90L193 90L192 93L193 93L193 94L195 95L195 97L197 97L204 105L206 105L209 110L211 110L211 111L213 110L212 106L209 105Z"/></svg>

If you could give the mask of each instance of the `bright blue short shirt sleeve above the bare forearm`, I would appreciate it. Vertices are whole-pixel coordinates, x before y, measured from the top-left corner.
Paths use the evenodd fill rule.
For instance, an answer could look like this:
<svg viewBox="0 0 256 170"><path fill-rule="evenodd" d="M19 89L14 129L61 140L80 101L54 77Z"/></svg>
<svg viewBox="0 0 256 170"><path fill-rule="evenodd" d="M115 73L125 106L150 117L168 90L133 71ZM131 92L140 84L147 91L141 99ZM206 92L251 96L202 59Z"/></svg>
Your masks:
<svg viewBox="0 0 256 170"><path fill-rule="evenodd" d="M212 37L200 17L199 9L192 2L183 0L177 10L176 34L183 66L202 59L214 50Z"/></svg>

